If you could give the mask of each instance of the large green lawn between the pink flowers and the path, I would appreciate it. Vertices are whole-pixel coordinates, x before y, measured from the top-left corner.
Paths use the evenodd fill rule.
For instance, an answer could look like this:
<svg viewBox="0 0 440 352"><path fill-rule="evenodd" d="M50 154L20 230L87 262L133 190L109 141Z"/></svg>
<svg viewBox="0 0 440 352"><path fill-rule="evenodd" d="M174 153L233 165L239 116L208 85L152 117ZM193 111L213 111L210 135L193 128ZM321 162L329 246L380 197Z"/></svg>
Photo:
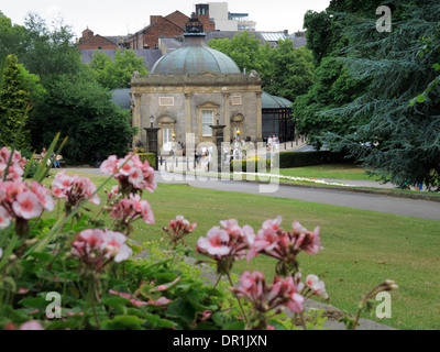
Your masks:
<svg viewBox="0 0 440 352"><path fill-rule="evenodd" d="M86 176L97 186L105 180ZM162 227L176 215L198 224L187 239L191 248L211 227L231 218L255 231L278 215L286 229L294 220L309 230L319 226L324 250L317 255L301 254L300 266L305 276L314 273L324 279L329 304L355 312L363 295L384 279L394 279L399 289L392 293L393 318L375 320L399 329L440 329L439 221L185 185L160 184L144 198L153 208L156 224L136 224L133 240L141 242L158 240ZM254 270L273 277L274 261L258 256L234 266L235 273Z"/></svg>

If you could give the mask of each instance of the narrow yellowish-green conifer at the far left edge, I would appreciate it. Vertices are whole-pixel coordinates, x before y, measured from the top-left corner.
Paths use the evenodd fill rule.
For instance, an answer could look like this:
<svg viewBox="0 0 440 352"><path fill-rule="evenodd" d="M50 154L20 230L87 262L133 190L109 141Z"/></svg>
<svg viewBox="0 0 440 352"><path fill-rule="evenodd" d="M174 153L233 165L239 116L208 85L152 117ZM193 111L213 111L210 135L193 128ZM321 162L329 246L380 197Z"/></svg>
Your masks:
<svg viewBox="0 0 440 352"><path fill-rule="evenodd" d="M25 150L30 146L30 131L25 129L25 125L31 100L30 86L36 80L35 76L29 75L19 65L16 56L7 56L0 95L0 145L12 146L16 132L22 125L15 147Z"/></svg>

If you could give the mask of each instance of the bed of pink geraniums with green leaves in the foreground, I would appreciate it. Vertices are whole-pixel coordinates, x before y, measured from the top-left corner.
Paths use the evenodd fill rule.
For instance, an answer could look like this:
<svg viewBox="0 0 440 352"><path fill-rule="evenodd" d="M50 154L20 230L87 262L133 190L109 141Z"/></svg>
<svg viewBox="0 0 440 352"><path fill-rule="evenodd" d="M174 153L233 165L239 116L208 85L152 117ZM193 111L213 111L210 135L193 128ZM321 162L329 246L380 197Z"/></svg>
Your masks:
<svg viewBox="0 0 440 352"><path fill-rule="evenodd" d="M47 188L41 169L23 180L19 153L2 148L0 156L0 329L284 330L295 328L297 317L306 329L305 301L328 296L316 275L302 279L297 261L302 252L322 250L318 227L308 231L295 221L284 230L278 217L254 231L235 219L221 221L196 248L216 268L212 286L200 275L201 261L183 261L185 238L197 223L177 216L163 228L162 242L141 248L131 241L135 221L155 223L143 199L145 190L156 190L154 170L138 154L101 164L118 186L106 191L97 215L86 205L101 204L97 195L105 184L97 188L88 178L58 173ZM62 216L43 220L43 212L61 206ZM105 218L113 219L109 228ZM141 251L148 256L135 258ZM257 255L274 258L273 283L245 272L235 285L234 263ZM374 293L393 288L393 282L378 285L365 305ZM355 328L358 319L349 316L348 326Z"/></svg>

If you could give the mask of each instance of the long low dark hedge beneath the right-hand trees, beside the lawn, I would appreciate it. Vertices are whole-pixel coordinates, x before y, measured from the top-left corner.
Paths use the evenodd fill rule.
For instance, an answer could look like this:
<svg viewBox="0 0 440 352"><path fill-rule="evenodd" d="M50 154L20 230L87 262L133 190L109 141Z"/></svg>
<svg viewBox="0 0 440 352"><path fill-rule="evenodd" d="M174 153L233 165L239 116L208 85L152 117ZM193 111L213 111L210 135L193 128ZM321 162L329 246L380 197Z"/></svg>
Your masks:
<svg viewBox="0 0 440 352"><path fill-rule="evenodd" d="M279 153L279 168L348 162L344 154L329 151Z"/></svg>

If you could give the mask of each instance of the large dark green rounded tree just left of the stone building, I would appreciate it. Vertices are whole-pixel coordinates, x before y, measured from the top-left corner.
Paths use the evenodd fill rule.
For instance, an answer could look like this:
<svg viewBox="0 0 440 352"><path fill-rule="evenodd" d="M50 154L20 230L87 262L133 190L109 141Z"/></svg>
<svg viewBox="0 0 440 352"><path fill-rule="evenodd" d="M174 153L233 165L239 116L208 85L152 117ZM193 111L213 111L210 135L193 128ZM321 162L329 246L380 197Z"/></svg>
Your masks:
<svg viewBox="0 0 440 352"><path fill-rule="evenodd" d="M136 132L130 125L131 116L111 102L111 95L88 69L59 75L46 89L46 99L32 120L34 145L47 146L61 131L68 136L63 154L70 162L92 164L97 153L128 152Z"/></svg>

